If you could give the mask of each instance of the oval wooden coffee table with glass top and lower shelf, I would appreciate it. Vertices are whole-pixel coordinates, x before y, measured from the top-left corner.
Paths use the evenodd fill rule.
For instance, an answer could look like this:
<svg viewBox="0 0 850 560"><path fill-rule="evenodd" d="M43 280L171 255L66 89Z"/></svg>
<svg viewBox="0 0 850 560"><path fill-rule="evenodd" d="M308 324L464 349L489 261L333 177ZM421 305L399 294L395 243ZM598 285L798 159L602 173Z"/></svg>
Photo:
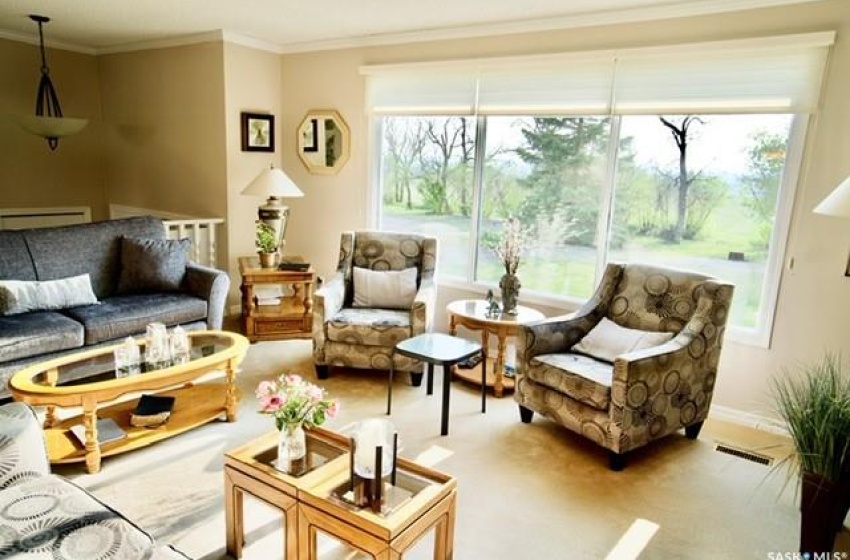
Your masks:
<svg viewBox="0 0 850 560"><path fill-rule="evenodd" d="M245 357L248 339L225 331L193 332L189 339L192 349L186 363L117 378L112 354L117 345L104 346L27 367L12 377L9 389L15 400L46 407L44 432L51 463L85 461L88 472L95 473L101 457L150 445L222 415L228 422L236 420L236 367ZM193 383L216 370L224 372L224 383ZM136 399L117 401L132 393L175 397L168 421L153 429L131 426ZM56 407L81 407L82 414L60 421ZM101 449L98 417L115 420L127 437ZM71 426L80 423L85 426L85 448L70 432Z"/></svg>

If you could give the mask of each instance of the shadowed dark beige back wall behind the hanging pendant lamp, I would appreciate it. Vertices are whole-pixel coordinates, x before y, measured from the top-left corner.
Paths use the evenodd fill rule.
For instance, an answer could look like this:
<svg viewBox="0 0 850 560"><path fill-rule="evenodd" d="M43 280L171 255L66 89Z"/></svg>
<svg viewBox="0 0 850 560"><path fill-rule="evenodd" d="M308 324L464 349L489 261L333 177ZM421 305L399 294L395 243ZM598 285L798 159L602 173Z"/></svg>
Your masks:
<svg viewBox="0 0 850 560"><path fill-rule="evenodd" d="M89 119L55 152L24 132L14 115L35 114L40 78L38 47L0 39L0 208L89 206L94 219L107 217L101 175L103 124L95 57L47 49L62 111Z"/></svg>

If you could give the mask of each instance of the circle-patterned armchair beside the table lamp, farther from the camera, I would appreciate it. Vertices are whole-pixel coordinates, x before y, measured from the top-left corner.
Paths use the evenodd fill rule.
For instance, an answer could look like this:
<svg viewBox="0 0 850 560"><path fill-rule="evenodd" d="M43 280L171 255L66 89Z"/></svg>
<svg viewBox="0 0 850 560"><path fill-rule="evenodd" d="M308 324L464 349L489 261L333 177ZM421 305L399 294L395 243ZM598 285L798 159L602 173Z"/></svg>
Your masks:
<svg viewBox="0 0 850 560"><path fill-rule="evenodd" d="M345 232L334 275L316 291L313 301L313 358L316 374L325 379L329 366L390 369L390 354L406 338L428 332L437 287L437 240L409 233ZM410 309L353 307L353 267L404 270L415 267L418 291ZM396 371L407 371L415 385L422 363L399 354Z"/></svg>

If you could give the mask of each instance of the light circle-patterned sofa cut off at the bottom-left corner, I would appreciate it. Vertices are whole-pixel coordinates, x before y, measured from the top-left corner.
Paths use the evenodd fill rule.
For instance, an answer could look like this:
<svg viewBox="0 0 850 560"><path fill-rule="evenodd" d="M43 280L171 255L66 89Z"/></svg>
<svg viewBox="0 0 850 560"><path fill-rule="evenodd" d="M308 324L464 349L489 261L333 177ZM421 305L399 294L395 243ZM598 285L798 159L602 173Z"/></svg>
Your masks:
<svg viewBox="0 0 850 560"><path fill-rule="evenodd" d="M97 498L50 474L41 425L23 403L0 406L0 557L186 560Z"/></svg>

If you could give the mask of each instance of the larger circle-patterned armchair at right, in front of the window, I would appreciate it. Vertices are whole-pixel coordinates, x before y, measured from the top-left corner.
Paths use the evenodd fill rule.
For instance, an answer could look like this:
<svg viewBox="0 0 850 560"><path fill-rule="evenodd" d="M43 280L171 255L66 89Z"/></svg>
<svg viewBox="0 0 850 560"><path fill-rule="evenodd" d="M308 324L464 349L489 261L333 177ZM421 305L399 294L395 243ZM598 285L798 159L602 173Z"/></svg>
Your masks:
<svg viewBox="0 0 850 560"><path fill-rule="evenodd" d="M685 428L696 439L708 415L734 287L709 276L609 264L593 297L572 316L523 326L514 397L523 422L534 412L609 450L626 453ZM610 362L573 353L605 317L621 327L673 333L660 346Z"/></svg>

